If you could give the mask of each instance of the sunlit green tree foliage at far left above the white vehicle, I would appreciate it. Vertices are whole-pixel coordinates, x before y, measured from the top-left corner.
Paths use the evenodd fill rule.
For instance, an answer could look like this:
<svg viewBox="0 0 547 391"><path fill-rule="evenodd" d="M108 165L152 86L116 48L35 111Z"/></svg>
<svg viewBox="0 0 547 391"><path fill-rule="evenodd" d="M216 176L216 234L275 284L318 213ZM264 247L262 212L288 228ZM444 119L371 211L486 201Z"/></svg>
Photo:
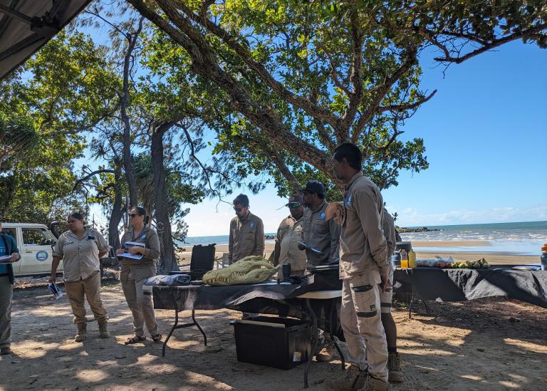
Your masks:
<svg viewBox="0 0 547 391"><path fill-rule="evenodd" d="M25 124L21 132L35 133L29 153L13 155L9 165L4 161L5 219L46 222L82 207L72 192L73 159L83 154L82 132L115 107L116 89L101 48L82 33L66 32L0 83L0 115Z"/></svg>

